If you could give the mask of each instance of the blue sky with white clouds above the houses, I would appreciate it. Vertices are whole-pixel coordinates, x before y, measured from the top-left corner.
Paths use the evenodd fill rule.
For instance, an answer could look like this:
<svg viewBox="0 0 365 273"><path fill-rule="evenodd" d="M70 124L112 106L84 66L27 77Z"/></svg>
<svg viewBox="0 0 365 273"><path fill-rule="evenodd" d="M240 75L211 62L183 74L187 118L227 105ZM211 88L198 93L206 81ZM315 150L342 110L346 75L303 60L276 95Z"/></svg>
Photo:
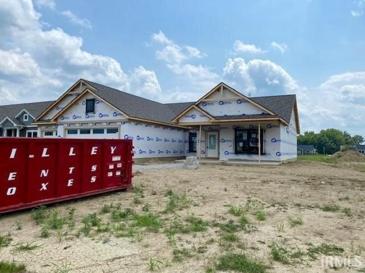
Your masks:
<svg viewBox="0 0 365 273"><path fill-rule="evenodd" d="M301 129L365 135L365 0L0 0L0 104L87 78L161 102L220 81L297 94Z"/></svg>

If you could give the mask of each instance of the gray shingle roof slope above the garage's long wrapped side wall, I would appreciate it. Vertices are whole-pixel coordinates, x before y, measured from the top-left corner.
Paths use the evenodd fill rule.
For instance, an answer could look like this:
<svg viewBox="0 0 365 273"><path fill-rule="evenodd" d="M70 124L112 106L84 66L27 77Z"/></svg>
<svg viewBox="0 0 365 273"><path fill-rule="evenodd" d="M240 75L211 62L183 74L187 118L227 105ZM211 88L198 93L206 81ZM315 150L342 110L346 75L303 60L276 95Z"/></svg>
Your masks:
<svg viewBox="0 0 365 273"><path fill-rule="evenodd" d="M176 115L193 104L193 102L163 104L88 80L84 81L96 88L96 91L93 90L95 94L105 99L128 116L134 118L170 123Z"/></svg>

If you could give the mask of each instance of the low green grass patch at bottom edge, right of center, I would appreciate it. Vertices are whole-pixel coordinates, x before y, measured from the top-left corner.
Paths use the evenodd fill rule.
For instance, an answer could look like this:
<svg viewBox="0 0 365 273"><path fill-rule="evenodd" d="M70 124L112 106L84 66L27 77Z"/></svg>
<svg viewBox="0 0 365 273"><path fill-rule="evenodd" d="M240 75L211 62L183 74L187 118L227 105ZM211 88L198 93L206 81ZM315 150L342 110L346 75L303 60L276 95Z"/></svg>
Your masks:
<svg viewBox="0 0 365 273"><path fill-rule="evenodd" d="M215 262L215 268L218 270L235 270L245 273L264 273L267 266L250 260L245 254L224 254ZM210 271L212 272L212 271Z"/></svg>

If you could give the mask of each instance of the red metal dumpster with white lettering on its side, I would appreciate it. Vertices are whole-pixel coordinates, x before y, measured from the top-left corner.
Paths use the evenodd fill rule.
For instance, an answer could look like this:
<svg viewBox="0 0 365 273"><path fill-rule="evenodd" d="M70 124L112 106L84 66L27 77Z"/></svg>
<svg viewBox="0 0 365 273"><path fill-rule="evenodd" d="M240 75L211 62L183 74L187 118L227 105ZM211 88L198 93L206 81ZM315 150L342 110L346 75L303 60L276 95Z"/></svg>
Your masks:
<svg viewBox="0 0 365 273"><path fill-rule="evenodd" d="M0 138L0 213L132 185L132 141Z"/></svg>

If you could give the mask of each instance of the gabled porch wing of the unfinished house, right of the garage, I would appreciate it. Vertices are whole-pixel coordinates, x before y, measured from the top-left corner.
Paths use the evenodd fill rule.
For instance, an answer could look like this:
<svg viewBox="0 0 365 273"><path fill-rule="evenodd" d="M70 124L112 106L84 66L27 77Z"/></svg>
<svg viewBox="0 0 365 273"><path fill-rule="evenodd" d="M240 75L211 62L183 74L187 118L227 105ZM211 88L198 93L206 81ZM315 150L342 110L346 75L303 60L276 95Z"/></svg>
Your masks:
<svg viewBox="0 0 365 273"><path fill-rule="evenodd" d="M188 139L197 139L197 146L190 146L189 152L197 152L199 158L289 161L297 157L300 129L295 95L248 98L220 83L172 121L195 128Z"/></svg>

